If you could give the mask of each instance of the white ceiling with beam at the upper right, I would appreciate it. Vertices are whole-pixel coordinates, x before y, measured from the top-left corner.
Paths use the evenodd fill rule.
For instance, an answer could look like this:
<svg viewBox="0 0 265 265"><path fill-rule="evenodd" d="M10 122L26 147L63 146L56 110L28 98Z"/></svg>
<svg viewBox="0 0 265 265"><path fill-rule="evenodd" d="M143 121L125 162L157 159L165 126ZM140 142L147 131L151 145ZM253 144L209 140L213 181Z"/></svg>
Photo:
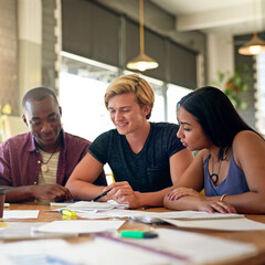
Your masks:
<svg viewBox="0 0 265 265"><path fill-rule="evenodd" d="M264 31L265 0L151 0L177 17L179 32L248 34ZM265 11L264 11L265 12Z"/></svg>

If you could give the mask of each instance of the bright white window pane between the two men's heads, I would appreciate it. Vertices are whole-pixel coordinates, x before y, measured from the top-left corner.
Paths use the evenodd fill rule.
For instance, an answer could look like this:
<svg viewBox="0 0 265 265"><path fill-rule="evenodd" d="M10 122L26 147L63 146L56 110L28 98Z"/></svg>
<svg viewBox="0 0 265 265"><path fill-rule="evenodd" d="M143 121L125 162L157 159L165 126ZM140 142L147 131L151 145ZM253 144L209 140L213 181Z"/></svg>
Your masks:
<svg viewBox="0 0 265 265"><path fill-rule="evenodd" d="M62 121L66 131L92 141L114 127L104 104L107 83L68 73L61 73L60 82Z"/></svg>

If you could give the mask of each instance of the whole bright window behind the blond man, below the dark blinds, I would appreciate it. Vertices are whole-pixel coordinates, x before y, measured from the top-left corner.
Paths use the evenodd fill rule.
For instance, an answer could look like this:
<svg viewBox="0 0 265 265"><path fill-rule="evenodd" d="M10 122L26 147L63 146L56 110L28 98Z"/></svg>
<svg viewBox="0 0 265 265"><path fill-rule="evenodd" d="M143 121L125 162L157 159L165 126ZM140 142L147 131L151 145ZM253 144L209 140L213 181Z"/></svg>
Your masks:
<svg viewBox="0 0 265 265"><path fill-rule="evenodd" d="M99 134L114 128L105 107L104 95L108 84L121 74L117 67L70 53L62 53L60 102L65 131L93 141ZM177 123L176 104L190 89L168 85L141 75L155 91L150 121Z"/></svg>

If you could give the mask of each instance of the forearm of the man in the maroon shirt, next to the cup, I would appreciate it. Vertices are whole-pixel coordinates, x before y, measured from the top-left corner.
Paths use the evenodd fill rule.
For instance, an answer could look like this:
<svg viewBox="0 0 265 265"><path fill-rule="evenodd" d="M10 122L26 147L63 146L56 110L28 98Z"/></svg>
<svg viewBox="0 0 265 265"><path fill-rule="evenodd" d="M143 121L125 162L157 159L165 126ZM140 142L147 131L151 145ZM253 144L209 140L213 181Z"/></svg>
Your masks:
<svg viewBox="0 0 265 265"><path fill-rule="evenodd" d="M1 187L6 189L6 202L22 202L34 199L33 186Z"/></svg>

